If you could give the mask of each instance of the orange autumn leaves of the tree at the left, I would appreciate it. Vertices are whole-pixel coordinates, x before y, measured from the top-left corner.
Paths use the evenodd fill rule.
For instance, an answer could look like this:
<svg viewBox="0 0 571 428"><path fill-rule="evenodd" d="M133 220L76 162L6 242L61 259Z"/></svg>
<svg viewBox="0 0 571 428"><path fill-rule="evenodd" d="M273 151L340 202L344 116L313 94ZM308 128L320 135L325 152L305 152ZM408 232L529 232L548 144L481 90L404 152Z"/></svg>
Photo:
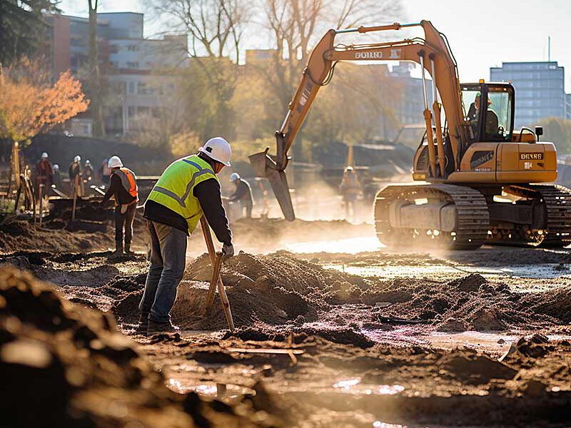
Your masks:
<svg viewBox="0 0 571 428"><path fill-rule="evenodd" d="M0 69L0 138L22 141L86 111L89 100L69 71L51 85L29 61Z"/></svg>

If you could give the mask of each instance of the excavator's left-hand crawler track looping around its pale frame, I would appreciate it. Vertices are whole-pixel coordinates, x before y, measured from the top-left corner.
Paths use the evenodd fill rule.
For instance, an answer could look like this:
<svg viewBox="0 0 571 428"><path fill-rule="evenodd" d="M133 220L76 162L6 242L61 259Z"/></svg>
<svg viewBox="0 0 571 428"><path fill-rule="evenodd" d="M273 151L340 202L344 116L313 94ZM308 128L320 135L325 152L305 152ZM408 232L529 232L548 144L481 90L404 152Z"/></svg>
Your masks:
<svg viewBox="0 0 571 428"><path fill-rule="evenodd" d="M395 200L427 198L454 203L457 217L452 233L418 228L393 228L390 225L390 203ZM385 244L412 244L433 240L454 250L473 250L485 243L490 228L490 215L484 196L473 188L450 184L389 185L375 199L375 229ZM433 242L437 244L437 242Z"/></svg>

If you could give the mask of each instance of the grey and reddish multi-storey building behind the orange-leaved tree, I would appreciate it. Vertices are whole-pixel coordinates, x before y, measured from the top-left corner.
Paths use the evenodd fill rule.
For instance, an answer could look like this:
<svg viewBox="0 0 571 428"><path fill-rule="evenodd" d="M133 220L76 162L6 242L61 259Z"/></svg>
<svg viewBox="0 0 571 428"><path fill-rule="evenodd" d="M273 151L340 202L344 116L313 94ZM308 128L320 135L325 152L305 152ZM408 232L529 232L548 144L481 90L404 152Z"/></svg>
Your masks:
<svg viewBox="0 0 571 428"><path fill-rule="evenodd" d="M89 62L89 19L79 16L49 15L46 56L51 73L71 70L86 78ZM158 115L173 77L168 69L185 66L187 38L164 36L143 38L143 14L133 12L97 14L98 63L113 96L106 109L106 131L126 133L151 126L148 118ZM89 111L74 119L89 130ZM89 131L87 131L89 133Z"/></svg>

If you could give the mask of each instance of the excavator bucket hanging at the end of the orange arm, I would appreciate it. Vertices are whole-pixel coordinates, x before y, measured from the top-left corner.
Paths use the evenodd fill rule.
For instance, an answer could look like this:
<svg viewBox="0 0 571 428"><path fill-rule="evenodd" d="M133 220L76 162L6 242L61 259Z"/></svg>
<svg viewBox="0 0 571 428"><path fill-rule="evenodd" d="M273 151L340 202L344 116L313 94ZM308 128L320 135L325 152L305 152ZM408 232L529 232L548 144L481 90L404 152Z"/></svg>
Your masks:
<svg viewBox="0 0 571 428"><path fill-rule="evenodd" d="M250 164L256 177L265 177L270 180L273 194L276 195L285 220L293 221L295 220L295 213L291 203L288 178L285 177L285 172L276 169L276 161L268 155L268 149L249 156Z"/></svg>

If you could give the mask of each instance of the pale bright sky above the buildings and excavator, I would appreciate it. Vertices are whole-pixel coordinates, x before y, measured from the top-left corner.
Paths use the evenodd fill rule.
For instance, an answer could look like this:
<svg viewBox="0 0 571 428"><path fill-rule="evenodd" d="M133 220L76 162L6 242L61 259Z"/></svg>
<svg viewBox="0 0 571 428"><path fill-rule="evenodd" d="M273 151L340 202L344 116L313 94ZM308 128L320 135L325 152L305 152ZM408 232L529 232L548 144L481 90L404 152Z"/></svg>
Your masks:
<svg viewBox="0 0 571 428"><path fill-rule="evenodd" d="M502 61L547 61L565 66L565 90L571 93L571 0L401 0L404 22L432 21L450 41L460 81L489 80L490 67ZM99 0L99 11L146 13L142 0ZM64 14L86 16L86 0L63 0ZM379 24L386 19L379 16ZM145 23L151 36L158 24ZM259 43L258 43L259 44ZM254 46L260 47L260 46Z"/></svg>

